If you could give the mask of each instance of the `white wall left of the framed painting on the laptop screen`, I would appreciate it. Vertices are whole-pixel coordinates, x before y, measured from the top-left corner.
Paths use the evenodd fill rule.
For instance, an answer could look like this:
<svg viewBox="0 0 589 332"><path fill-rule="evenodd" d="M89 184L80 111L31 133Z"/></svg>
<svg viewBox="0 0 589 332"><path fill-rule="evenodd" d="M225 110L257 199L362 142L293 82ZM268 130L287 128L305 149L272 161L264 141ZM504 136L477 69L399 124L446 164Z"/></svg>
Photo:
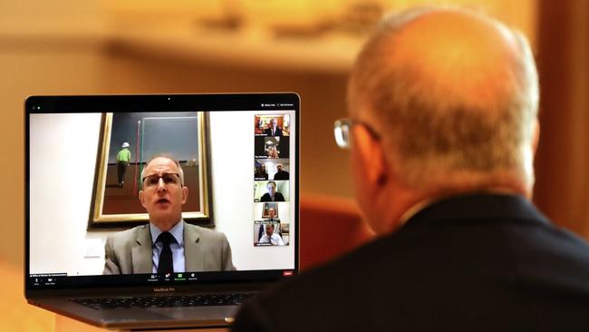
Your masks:
<svg viewBox="0 0 589 332"><path fill-rule="evenodd" d="M86 233L101 114L34 114L30 121L31 273L100 274L103 250L84 256L88 239L107 235Z"/></svg>

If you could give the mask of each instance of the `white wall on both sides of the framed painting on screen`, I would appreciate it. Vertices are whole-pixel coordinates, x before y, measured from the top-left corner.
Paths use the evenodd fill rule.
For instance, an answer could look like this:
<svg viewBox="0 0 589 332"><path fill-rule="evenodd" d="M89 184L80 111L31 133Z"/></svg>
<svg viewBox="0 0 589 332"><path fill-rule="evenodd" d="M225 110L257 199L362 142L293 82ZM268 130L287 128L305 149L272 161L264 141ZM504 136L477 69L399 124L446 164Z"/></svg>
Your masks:
<svg viewBox="0 0 589 332"><path fill-rule="evenodd" d="M252 243L255 113L263 112L210 113L216 229L227 235L237 269L293 269L294 245L258 248ZM111 232L86 230L100 122L98 113L31 117L31 273L101 274L103 245ZM290 195L294 197L294 186ZM280 213L294 220L294 209ZM290 229L294 239L294 224Z"/></svg>

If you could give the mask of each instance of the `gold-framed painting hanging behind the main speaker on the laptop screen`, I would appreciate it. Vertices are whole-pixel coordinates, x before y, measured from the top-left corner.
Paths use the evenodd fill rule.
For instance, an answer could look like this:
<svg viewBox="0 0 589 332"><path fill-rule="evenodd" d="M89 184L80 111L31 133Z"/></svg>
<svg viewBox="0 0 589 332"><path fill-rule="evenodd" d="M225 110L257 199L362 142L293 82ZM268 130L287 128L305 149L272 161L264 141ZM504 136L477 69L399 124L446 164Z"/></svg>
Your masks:
<svg viewBox="0 0 589 332"><path fill-rule="evenodd" d="M149 221L140 204L141 171L154 156L179 161L188 187L182 218L213 226L205 112L103 113L88 229Z"/></svg>

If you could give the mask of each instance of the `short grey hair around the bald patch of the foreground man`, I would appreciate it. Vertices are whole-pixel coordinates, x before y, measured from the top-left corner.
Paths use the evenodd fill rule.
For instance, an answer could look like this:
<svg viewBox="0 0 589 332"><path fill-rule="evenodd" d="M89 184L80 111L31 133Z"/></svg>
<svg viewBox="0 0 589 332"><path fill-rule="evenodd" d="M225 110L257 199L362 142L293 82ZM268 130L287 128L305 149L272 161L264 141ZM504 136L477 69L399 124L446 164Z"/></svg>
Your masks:
<svg viewBox="0 0 589 332"><path fill-rule="evenodd" d="M436 80L420 78L392 60L403 28L439 10L479 16L515 41L518 54L497 67L508 79L488 87L496 90L490 92L495 93L491 103L461 89L447 93ZM534 182L526 146L533 139L538 109L536 64L526 38L492 18L439 6L385 17L354 64L348 107L352 117L380 134L386 151L394 151L387 157L398 157L395 170L412 187L465 171L483 176L515 171L526 185Z"/></svg>

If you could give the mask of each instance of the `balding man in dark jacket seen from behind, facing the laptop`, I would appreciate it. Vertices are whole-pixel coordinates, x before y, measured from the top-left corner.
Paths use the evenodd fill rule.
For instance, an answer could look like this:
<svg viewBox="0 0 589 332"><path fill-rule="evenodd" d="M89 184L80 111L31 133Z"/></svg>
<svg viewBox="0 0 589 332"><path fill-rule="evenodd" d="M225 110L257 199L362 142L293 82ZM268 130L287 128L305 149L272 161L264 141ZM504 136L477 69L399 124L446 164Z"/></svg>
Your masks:
<svg viewBox="0 0 589 332"><path fill-rule="evenodd" d="M388 17L348 105L336 141L379 237L256 297L236 331L589 331L589 245L530 202L538 82L521 34L457 8Z"/></svg>

